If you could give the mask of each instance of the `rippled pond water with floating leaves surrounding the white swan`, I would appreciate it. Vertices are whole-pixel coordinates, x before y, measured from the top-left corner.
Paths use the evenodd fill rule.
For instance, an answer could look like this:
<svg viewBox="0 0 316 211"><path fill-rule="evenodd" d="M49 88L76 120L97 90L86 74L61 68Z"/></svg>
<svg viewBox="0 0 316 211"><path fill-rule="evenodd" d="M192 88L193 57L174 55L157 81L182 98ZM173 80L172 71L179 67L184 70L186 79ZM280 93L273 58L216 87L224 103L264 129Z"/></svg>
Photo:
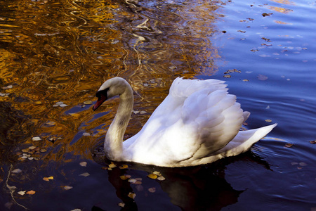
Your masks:
<svg viewBox="0 0 316 211"><path fill-rule="evenodd" d="M0 8L0 210L316 210L315 1ZM210 165L115 167L102 144L119 101L91 109L114 76L134 90L126 137L178 76L225 80L251 112L247 129L278 125ZM148 177L155 171L160 180Z"/></svg>

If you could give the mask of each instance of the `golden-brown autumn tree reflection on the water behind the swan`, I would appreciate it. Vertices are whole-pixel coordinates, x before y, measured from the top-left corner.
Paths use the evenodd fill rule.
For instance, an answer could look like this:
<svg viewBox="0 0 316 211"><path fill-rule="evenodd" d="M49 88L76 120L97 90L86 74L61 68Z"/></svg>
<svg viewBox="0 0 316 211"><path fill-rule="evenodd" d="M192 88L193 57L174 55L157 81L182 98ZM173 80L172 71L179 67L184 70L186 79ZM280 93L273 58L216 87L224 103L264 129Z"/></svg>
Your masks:
<svg viewBox="0 0 316 211"><path fill-rule="evenodd" d="M126 78L135 92L128 134L135 134L168 94L175 77L211 75L219 58L209 37L220 18L209 1L1 1L0 104L3 162L21 149L46 148L91 158L118 101L89 108L100 84ZM12 87L11 87L12 85ZM58 102L67 105L60 107ZM41 141L32 141L39 136ZM53 140L53 141L52 141ZM25 160L24 162L27 162Z"/></svg>

